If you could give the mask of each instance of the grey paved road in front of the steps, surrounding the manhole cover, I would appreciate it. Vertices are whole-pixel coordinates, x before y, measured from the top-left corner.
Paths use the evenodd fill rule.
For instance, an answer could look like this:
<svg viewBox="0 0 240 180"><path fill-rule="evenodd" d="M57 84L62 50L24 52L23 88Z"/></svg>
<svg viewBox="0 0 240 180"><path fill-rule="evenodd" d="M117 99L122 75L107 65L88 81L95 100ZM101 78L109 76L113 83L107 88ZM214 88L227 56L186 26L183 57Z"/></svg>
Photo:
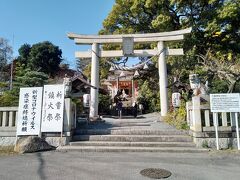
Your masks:
<svg viewBox="0 0 240 180"><path fill-rule="evenodd" d="M239 180L240 153L41 152L0 156L0 180L148 180L144 168L164 168L168 179Z"/></svg>

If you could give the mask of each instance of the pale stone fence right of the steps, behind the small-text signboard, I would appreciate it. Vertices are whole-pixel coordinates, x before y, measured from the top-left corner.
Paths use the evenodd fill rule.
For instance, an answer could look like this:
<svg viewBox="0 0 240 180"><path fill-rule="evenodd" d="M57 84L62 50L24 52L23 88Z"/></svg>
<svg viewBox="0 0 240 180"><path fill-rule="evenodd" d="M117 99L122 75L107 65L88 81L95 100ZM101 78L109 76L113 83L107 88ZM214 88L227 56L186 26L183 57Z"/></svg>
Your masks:
<svg viewBox="0 0 240 180"><path fill-rule="evenodd" d="M200 97L192 98L187 102L187 122L190 135L198 147L216 147L213 113L210 104L201 103ZM218 133L220 148L236 148L236 125L233 113L218 113Z"/></svg>

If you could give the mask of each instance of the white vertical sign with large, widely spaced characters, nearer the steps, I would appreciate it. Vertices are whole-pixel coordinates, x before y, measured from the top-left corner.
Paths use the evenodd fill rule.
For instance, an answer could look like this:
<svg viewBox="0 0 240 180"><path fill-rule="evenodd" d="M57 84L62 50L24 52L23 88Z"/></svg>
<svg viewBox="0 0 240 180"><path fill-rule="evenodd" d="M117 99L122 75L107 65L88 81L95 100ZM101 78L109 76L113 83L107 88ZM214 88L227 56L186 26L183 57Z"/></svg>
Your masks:
<svg viewBox="0 0 240 180"><path fill-rule="evenodd" d="M64 85L45 85L41 132L62 132Z"/></svg>

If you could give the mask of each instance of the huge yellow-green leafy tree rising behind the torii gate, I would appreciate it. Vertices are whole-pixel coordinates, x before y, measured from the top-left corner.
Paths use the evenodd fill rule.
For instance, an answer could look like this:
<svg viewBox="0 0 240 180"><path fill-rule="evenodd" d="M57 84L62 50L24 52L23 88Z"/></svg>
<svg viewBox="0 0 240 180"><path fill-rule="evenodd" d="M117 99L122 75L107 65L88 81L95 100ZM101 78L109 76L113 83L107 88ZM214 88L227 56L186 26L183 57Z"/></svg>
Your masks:
<svg viewBox="0 0 240 180"><path fill-rule="evenodd" d="M173 48L183 47L185 51L185 56L167 58L169 81L177 76L182 82L188 82L191 72L207 74L204 66L198 62L198 56L206 54L208 49L211 49L213 53L207 60L221 64L225 70L227 69L225 66L228 65L226 57L234 57L232 63L239 63L240 27L236 25L240 24L239 14L240 0L116 0L111 12L104 20L103 29L99 34L155 33L192 27L192 33L187 35L183 42L166 43L166 46ZM135 48L150 46L153 48L156 47L156 44L136 44ZM116 49L120 46L105 45L103 48ZM224 58L219 59L218 54ZM157 67L156 60L153 61L153 65ZM157 71L155 72L157 73ZM229 71L227 72L229 73ZM149 72L148 75L155 79L155 82L158 81L158 76L152 72ZM210 77L213 77L213 84L221 80L219 74ZM224 78L221 80L222 83L227 80L228 86L233 86L234 83L230 83L232 81L230 76L221 77ZM143 76L140 81L143 93L148 92L148 89L151 90L151 93L156 93L157 88L146 84L150 78ZM235 80L237 79L235 78ZM237 83L238 80L235 88L239 87ZM224 89L219 90L223 91ZM151 98L157 97L157 95L154 94ZM150 97L146 95L146 98ZM150 102L149 106L151 106Z"/></svg>

